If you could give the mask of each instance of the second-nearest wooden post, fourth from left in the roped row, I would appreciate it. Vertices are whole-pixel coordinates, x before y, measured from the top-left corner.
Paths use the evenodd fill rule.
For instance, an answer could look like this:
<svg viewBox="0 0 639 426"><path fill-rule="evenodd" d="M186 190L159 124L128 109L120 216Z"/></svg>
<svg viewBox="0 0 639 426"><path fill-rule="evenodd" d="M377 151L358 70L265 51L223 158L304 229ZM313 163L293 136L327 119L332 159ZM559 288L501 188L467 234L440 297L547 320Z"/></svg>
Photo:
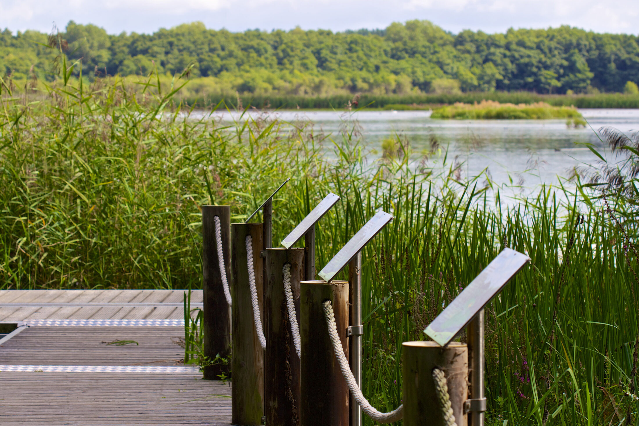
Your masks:
<svg viewBox="0 0 639 426"><path fill-rule="evenodd" d="M348 359L348 281L302 281L300 289L300 424L346 426L349 418L348 388L328 337L322 303L331 301L337 333Z"/></svg>

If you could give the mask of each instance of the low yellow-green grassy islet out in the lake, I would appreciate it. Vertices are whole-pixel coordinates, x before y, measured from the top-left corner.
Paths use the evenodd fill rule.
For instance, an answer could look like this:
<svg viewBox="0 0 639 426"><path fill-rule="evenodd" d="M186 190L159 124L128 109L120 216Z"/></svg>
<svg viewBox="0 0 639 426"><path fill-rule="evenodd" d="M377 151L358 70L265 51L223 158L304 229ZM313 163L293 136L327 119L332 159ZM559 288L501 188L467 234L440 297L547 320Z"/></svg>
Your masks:
<svg viewBox="0 0 639 426"><path fill-rule="evenodd" d="M566 117L581 119L581 114L574 108L551 107L548 103L543 102L532 103L531 105L514 105L513 103L493 101L482 101L473 105L455 103L451 106L440 107L431 114L431 118L457 119L548 119Z"/></svg>

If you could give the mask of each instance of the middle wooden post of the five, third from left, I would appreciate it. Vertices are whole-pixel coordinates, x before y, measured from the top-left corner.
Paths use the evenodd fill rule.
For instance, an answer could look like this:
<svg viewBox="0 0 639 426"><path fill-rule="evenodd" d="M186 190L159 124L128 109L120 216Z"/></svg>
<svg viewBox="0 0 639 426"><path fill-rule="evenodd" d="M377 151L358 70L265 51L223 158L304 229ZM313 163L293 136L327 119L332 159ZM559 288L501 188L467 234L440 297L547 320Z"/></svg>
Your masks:
<svg viewBox="0 0 639 426"><path fill-rule="evenodd" d="M268 426L300 424L300 358L295 353L284 293L284 264L291 264L295 317L300 317L300 281L304 280L304 248L266 248L264 291L265 416Z"/></svg>

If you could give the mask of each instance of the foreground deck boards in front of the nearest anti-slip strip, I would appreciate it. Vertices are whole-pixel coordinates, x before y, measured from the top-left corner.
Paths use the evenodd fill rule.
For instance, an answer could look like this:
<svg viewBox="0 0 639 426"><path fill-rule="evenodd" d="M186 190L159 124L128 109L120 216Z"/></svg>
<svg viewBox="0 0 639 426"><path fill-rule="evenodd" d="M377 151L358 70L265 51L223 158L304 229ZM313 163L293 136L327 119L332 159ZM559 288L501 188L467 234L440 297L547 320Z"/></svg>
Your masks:
<svg viewBox="0 0 639 426"><path fill-rule="evenodd" d="M231 420L228 384L195 375L0 372L0 380L3 426L228 426Z"/></svg>

